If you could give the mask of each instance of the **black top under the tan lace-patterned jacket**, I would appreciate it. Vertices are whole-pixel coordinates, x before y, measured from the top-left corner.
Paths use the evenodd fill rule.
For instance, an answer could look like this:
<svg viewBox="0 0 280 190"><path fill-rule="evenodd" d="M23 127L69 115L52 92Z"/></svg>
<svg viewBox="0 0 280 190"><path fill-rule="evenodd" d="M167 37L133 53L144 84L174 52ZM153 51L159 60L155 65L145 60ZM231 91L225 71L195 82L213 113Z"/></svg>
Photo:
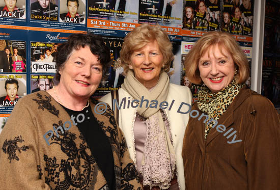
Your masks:
<svg viewBox="0 0 280 190"><path fill-rule="evenodd" d="M96 160L97 166L107 181L109 189L116 189L114 158L111 145L106 134L96 121L91 111L91 106L86 107L82 111L73 111L64 106L62 107L69 114L72 122L75 122L74 124L86 139L92 155Z"/></svg>

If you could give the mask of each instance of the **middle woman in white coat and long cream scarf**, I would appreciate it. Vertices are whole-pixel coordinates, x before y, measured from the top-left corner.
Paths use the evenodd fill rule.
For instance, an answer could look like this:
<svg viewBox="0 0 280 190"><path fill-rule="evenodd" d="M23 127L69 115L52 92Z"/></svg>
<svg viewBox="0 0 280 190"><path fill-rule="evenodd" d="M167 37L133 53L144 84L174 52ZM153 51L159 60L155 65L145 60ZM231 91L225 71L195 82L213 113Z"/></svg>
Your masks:
<svg viewBox="0 0 280 190"><path fill-rule="evenodd" d="M191 104L191 92L170 83L166 72L173 57L172 43L159 25L135 28L125 37L121 50L126 78L117 91L118 105L123 102L128 107L120 107L115 117L144 189L185 189L181 154L189 117L177 110L181 102ZM114 110L118 105L111 95L101 101Z"/></svg>

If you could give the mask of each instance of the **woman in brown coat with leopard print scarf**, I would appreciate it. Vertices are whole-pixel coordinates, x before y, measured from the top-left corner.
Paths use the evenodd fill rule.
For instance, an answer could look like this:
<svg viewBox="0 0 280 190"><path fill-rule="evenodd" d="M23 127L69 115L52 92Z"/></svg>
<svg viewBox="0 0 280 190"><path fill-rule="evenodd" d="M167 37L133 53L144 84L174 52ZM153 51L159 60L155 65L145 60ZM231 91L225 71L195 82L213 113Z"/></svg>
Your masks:
<svg viewBox="0 0 280 190"><path fill-rule="evenodd" d="M248 61L235 39L206 33L185 69L191 83L204 84L185 131L186 188L278 189L280 119L267 98L245 85Z"/></svg>

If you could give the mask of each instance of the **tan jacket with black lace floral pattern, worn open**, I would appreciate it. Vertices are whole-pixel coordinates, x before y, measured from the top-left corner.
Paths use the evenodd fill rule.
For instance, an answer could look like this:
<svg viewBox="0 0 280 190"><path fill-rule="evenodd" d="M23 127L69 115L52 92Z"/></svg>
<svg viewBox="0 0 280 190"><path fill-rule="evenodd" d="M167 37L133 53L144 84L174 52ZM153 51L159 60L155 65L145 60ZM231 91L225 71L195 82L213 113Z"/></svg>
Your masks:
<svg viewBox="0 0 280 190"><path fill-rule="evenodd" d="M96 114L97 103L90 101L94 117L111 145L116 189L142 189L113 112ZM63 133L53 132L47 145L43 135L53 131L53 126L61 126ZM0 147L0 189L107 189L85 138L64 108L45 91L18 101L0 134Z"/></svg>

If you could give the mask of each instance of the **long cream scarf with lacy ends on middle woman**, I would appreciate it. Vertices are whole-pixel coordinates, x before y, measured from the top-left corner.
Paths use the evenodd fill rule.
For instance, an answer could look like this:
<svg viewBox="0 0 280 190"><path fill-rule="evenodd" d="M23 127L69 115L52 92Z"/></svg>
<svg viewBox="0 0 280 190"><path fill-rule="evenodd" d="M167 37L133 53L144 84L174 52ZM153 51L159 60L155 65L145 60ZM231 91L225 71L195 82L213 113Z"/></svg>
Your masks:
<svg viewBox="0 0 280 190"><path fill-rule="evenodd" d="M166 72L161 73L157 85L149 91L138 82L134 73L129 70L122 88L139 101L144 96L144 99L149 100L149 105L154 104L155 100L158 101L155 108L146 108L146 102L143 103L142 107L137 107L137 113L147 118L144 156L138 171L143 176L143 186L149 185L150 188L159 186L162 189L167 189L174 177L176 158L169 133L159 110L159 104L166 100L169 91L169 77Z"/></svg>

